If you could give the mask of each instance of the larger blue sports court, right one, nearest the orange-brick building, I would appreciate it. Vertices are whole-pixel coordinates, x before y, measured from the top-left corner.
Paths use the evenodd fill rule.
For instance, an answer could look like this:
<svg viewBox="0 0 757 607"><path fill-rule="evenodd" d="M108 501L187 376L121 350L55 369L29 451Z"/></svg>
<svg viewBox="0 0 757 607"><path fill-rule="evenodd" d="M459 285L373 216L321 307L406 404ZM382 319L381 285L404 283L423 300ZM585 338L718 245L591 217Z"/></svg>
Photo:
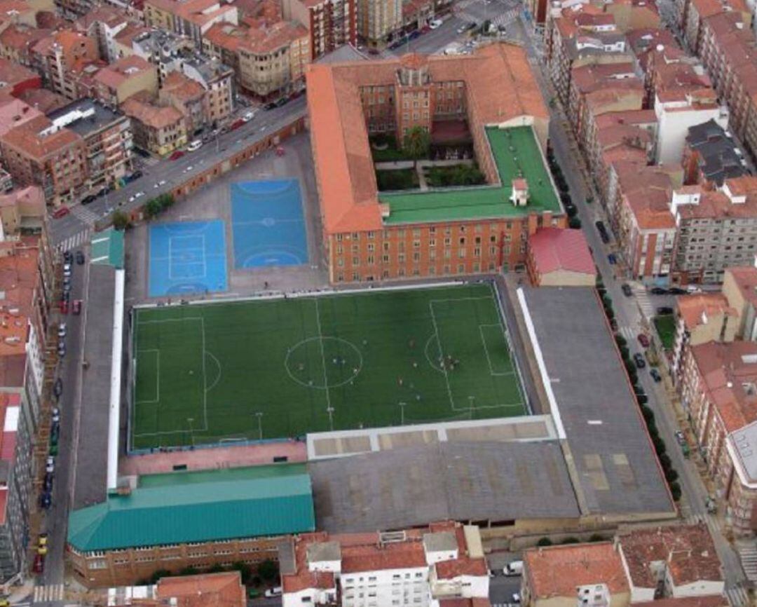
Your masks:
<svg viewBox="0 0 757 607"><path fill-rule="evenodd" d="M231 198L236 268L307 263L297 179L233 183Z"/></svg>

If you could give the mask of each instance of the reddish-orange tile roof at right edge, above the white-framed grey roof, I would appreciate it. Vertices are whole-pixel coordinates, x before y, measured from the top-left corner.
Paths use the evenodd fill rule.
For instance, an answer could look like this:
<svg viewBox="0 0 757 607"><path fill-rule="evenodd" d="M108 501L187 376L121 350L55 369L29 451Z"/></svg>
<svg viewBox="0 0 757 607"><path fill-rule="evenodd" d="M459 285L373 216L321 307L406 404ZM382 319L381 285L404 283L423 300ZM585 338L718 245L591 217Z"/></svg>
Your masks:
<svg viewBox="0 0 757 607"><path fill-rule="evenodd" d="M757 355L754 341L721 344L710 341L691 348L702 388L717 409L726 432L737 431L757 420L757 396L743 384L757 383L757 363L745 363L743 356Z"/></svg>

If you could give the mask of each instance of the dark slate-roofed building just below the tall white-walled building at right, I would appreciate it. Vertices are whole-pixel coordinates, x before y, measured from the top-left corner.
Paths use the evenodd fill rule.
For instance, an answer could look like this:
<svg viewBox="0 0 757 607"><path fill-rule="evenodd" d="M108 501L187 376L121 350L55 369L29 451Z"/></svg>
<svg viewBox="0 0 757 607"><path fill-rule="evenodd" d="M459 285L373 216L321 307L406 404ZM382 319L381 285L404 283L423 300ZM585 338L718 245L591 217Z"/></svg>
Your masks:
<svg viewBox="0 0 757 607"><path fill-rule="evenodd" d="M726 179L747 173L743 153L715 120L689 127L681 163L686 185L720 187Z"/></svg>

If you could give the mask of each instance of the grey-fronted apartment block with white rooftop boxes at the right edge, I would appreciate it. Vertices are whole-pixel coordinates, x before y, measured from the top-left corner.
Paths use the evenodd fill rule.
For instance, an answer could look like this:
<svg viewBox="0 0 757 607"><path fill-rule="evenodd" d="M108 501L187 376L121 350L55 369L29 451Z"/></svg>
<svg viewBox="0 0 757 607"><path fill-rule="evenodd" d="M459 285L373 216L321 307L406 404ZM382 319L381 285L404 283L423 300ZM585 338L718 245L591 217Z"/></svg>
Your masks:
<svg viewBox="0 0 757 607"><path fill-rule="evenodd" d="M757 178L726 179L721 188L676 191L674 282L722 282L728 266L746 265L757 247Z"/></svg>

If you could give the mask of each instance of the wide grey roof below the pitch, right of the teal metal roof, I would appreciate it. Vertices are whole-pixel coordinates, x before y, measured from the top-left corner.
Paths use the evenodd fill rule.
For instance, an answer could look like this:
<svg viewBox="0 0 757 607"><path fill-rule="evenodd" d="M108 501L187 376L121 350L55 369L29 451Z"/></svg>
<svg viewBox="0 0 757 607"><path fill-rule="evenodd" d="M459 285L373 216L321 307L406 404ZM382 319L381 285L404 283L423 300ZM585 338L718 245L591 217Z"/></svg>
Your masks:
<svg viewBox="0 0 757 607"><path fill-rule="evenodd" d="M331 533L428 521L576 518L556 440L437 443L309 462L316 526Z"/></svg>

